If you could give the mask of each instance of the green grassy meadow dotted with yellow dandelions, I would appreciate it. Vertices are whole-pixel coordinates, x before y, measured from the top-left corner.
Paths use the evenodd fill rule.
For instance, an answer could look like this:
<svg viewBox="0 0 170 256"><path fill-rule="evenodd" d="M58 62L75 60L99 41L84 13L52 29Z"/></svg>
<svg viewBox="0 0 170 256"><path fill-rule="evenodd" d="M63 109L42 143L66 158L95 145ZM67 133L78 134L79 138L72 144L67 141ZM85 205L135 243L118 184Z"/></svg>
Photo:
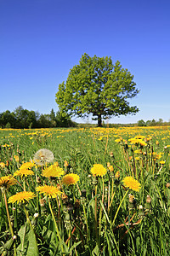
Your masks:
<svg viewBox="0 0 170 256"><path fill-rule="evenodd" d="M170 255L170 127L0 130L2 255Z"/></svg>

